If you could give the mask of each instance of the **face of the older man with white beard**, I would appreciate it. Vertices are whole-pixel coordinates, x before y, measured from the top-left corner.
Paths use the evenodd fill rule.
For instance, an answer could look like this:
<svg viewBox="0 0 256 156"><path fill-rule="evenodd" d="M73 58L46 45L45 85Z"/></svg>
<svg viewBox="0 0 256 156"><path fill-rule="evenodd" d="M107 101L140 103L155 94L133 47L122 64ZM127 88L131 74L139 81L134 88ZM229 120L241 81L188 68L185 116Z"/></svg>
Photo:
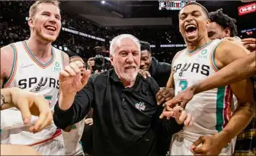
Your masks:
<svg viewBox="0 0 256 156"><path fill-rule="evenodd" d="M110 54L110 61L120 80L133 82L139 71L139 47L132 39L123 38L114 45L114 54Z"/></svg>

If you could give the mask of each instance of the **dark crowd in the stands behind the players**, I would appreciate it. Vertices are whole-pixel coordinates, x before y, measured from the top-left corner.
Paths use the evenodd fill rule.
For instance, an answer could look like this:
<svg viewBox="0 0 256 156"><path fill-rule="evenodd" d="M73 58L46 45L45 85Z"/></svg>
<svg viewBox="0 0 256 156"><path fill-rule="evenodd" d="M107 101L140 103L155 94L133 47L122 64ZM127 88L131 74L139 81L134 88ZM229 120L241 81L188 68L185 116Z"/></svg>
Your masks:
<svg viewBox="0 0 256 156"><path fill-rule="evenodd" d="M30 5L33 2L1 2L0 46L8 45L11 42L18 42L28 39L30 30L27 25L27 17ZM85 61L94 57L95 47L103 46L104 51L108 50L110 40L122 33L130 33L137 38L147 41L155 48L152 48L152 55L158 61L171 63L171 59L181 48L159 48L161 44L183 43L181 35L178 33L178 27L130 27L129 29L120 29L117 27L100 27L90 20L79 17L74 14L66 14L62 11L62 27L70 30L77 30L92 36L101 37L105 42L96 39L90 39L85 36L69 33L61 30L58 39L53 43L59 48L69 49L66 51L69 55L80 55ZM65 51L65 49L63 49ZM104 54L107 56L106 54Z"/></svg>

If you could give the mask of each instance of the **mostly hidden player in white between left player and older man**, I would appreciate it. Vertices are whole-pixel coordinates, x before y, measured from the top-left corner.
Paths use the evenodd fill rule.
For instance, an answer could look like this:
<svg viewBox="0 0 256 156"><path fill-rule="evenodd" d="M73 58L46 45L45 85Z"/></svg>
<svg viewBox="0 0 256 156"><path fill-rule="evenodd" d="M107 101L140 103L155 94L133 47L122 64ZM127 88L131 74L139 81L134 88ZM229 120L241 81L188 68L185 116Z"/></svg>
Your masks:
<svg viewBox="0 0 256 156"><path fill-rule="evenodd" d="M79 56L73 56L69 60L70 62L81 61L83 64L85 62ZM85 155L82 144L80 143L80 139L82 138L82 134L85 127L85 118L78 123L73 124L72 126L68 126L64 131L62 131L62 135L64 138L66 155Z"/></svg>

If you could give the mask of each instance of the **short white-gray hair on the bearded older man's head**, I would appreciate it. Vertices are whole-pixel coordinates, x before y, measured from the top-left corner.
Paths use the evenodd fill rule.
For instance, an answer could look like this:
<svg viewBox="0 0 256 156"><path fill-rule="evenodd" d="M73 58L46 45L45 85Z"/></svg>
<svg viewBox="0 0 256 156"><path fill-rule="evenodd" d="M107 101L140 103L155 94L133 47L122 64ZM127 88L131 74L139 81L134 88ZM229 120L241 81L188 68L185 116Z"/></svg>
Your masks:
<svg viewBox="0 0 256 156"><path fill-rule="evenodd" d="M137 39L135 36L130 35L130 34L121 34L119 36L114 37L114 39L111 40L110 42L110 55L114 55L114 46L115 45L120 45L121 41L123 39L132 39L133 42L135 42L136 45L138 45L139 48L139 53L140 53L140 44L139 44L139 39Z"/></svg>

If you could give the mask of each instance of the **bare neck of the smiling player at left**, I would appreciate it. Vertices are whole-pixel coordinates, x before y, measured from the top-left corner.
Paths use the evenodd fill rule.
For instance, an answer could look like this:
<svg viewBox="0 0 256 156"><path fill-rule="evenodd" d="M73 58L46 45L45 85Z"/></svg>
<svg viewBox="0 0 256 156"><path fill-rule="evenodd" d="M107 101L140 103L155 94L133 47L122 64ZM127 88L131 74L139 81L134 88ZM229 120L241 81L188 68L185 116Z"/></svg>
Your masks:
<svg viewBox="0 0 256 156"><path fill-rule="evenodd" d="M27 40L27 46L30 48L32 54L40 58L46 58L52 55L51 43L52 42L43 42L40 39L32 36L30 36L30 38Z"/></svg>

